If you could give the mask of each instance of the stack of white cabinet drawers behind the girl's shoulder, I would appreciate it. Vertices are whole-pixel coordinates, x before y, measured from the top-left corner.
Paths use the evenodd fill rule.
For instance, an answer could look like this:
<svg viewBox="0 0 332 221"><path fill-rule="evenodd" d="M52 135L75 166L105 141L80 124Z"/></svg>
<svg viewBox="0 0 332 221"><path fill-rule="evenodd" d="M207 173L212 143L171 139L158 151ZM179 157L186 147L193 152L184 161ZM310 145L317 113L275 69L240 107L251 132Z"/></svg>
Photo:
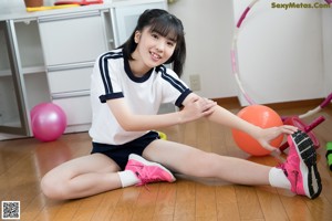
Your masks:
<svg viewBox="0 0 332 221"><path fill-rule="evenodd" d="M90 127L90 75L95 59L114 42L106 34L108 13L92 10L38 20L52 102L66 114L66 131Z"/></svg>

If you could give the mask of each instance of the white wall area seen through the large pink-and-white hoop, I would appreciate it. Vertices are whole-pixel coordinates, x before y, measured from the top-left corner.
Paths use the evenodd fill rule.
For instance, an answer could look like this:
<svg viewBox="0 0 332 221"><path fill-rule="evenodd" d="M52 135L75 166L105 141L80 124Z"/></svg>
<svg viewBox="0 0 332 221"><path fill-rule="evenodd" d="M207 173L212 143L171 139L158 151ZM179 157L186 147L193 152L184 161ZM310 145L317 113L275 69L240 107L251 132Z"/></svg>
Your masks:
<svg viewBox="0 0 332 221"><path fill-rule="evenodd" d="M234 0L237 19L250 2ZM239 72L247 93L263 104L323 97L321 9L273 9L272 2L259 1L239 35Z"/></svg>

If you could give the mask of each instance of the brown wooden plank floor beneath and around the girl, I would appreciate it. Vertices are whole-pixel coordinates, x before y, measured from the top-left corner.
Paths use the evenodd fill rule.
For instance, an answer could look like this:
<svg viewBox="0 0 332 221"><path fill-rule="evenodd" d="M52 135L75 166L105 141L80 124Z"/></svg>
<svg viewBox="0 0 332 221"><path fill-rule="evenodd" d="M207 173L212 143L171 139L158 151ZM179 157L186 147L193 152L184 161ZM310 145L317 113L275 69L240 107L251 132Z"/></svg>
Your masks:
<svg viewBox="0 0 332 221"><path fill-rule="evenodd" d="M281 115L303 114L311 107L278 110ZM232 108L237 112L238 108ZM40 190L41 177L71 158L90 152L86 133L63 135L53 143L34 138L0 141L0 200L21 203L21 220L332 220L332 173L326 167L325 144L332 141L331 108L313 117L326 120L314 131L321 143L318 149L323 191L315 200L293 196L271 187L245 187L221 180L179 176L175 183L129 187L94 197L53 201ZM272 157L249 157L236 147L228 128L205 119L164 128L168 139L181 141L220 155L247 158L274 166Z"/></svg>

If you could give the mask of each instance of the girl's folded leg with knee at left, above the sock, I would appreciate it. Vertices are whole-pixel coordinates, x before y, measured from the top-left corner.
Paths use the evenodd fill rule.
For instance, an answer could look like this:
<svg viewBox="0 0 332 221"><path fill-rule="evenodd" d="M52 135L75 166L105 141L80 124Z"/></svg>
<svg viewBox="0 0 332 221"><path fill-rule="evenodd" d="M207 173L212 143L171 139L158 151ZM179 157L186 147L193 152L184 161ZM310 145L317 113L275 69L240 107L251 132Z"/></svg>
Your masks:
<svg viewBox="0 0 332 221"><path fill-rule="evenodd" d="M50 170L41 181L44 194L52 199L75 199L122 187L118 166L102 154L66 161Z"/></svg>

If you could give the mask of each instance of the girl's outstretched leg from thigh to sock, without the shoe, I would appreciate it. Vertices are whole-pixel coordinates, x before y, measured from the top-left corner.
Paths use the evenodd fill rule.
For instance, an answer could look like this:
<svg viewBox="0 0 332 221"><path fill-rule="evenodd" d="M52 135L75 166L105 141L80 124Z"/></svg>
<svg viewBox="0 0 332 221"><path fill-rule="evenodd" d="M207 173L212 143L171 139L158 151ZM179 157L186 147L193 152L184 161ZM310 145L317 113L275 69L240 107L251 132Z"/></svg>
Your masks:
<svg viewBox="0 0 332 221"><path fill-rule="evenodd" d="M153 141L143 156L183 175L219 178L238 185L269 185L271 167L206 152L174 141Z"/></svg>

